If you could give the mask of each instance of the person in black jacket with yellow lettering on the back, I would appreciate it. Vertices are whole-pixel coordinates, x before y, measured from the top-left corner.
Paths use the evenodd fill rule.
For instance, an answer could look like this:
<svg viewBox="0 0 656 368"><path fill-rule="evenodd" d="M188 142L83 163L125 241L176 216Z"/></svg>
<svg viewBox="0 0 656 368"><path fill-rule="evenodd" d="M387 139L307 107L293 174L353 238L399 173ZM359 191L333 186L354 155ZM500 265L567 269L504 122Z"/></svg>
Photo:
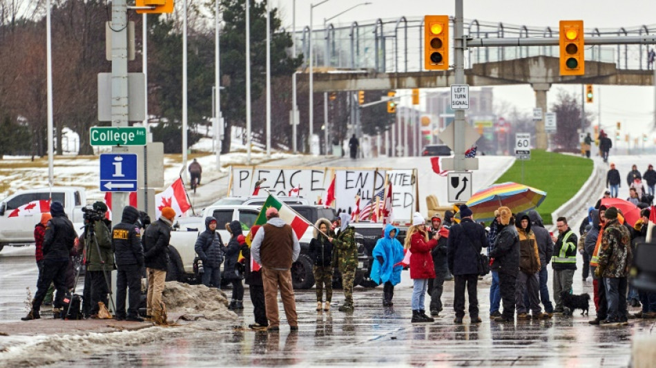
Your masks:
<svg viewBox="0 0 656 368"><path fill-rule="evenodd" d="M139 234L139 211L133 206L125 206L121 223L112 229L112 248L116 259L116 320L142 322L139 317L139 302L142 294L142 270L144 250ZM130 290L128 293L128 289ZM130 304L125 310L125 298Z"/></svg>

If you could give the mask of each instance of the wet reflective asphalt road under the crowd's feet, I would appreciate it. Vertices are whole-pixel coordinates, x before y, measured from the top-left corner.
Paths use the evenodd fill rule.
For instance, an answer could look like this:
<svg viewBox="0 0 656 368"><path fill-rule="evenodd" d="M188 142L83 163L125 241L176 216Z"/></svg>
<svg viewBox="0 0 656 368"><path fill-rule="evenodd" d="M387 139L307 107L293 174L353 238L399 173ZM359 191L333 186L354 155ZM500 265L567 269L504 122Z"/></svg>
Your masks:
<svg viewBox="0 0 656 368"><path fill-rule="evenodd" d="M33 248L10 248L0 253L0 319L18 320L24 313L25 288L36 280ZM580 261L580 260L579 260ZM579 265L580 266L580 265ZM630 320L626 327L593 327L590 318L575 313L571 318L498 324L488 319L489 285L479 281L479 303L483 323L453 323L453 283L445 283L443 316L434 323L409 322L411 280L403 274L396 287L394 307L381 306L382 289L357 287L353 313L337 311L343 300L334 293L330 312L317 312L315 291L297 291L300 331L291 333L284 325L280 333L249 331L253 321L248 289L246 309L238 326L224 331L180 334L175 338L126 347L121 351L73 354L76 358L55 367L128 365L131 367L215 366L429 366L454 365L490 367L626 367L630 363L631 340L648 335L654 320ZM577 271L575 293L592 295L592 282L582 282ZM227 291L230 293L230 291ZM429 298L427 298L427 303ZM637 311L638 309L631 309ZM64 322L63 322L64 323ZM231 324L234 325L234 324ZM173 327L175 328L175 327ZM1 354L1 353L0 353Z"/></svg>

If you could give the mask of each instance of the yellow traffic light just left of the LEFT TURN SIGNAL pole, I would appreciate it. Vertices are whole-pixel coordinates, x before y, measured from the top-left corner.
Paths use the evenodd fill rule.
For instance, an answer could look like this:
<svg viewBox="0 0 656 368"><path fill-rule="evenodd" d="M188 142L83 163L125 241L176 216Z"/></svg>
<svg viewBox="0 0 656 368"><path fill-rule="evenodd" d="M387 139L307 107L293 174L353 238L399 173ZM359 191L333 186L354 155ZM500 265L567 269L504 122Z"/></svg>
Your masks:
<svg viewBox="0 0 656 368"><path fill-rule="evenodd" d="M424 17L424 69L449 68L449 16Z"/></svg>

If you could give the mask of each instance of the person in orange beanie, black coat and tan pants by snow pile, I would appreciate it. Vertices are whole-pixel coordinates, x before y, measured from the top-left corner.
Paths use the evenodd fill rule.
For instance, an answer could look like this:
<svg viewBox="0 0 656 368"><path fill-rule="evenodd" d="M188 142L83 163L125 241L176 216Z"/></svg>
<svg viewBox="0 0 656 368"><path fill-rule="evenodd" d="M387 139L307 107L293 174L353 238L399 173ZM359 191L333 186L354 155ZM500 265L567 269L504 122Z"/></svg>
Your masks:
<svg viewBox="0 0 656 368"><path fill-rule="evenodd" d="M175 219L175 210L164 207L157 221L148 225L142 244L144 246L144 263L148 275L148 296L146 298L146 315L155 322L162 320L162 292L168 270L168 242L171 240L171 226Z"/></svg>

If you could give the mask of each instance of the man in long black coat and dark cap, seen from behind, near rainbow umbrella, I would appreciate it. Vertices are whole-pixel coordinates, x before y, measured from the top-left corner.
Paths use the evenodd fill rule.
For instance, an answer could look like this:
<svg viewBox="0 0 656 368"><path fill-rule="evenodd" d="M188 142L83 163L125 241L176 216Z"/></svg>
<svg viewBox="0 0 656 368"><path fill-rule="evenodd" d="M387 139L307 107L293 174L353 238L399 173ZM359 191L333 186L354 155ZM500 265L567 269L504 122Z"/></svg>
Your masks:
<svg viewBox="0 0 656 368"><path fill-rule="evenodd" d="M465 204L460 206L461 222L454 224L449 231L447 259L449 270L454 275L455 323L462 323L465 316L465 287L469 295L469 312L473 323L480 323L479 301L476 284L479 281L479 255L488 246L485 228L472 220L472 210Z"/></svg>

